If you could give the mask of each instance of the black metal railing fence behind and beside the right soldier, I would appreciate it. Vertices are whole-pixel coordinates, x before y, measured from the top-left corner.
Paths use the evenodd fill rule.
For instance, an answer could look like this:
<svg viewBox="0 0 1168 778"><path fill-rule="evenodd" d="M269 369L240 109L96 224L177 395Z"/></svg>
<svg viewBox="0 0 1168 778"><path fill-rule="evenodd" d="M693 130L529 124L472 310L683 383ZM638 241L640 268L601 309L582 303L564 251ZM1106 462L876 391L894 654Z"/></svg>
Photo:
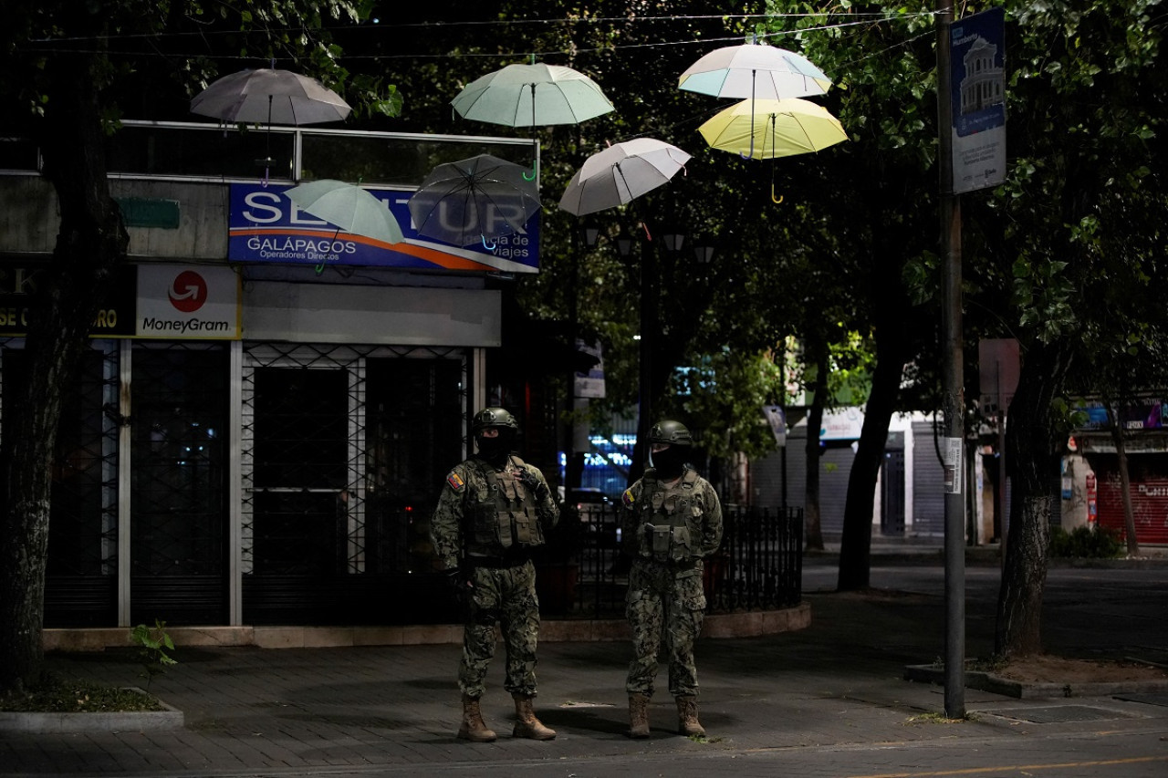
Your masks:
<svg viewBox="0 0 1168 778"><path fill-rule="evenodd" d="M536 585L543 613L624 616L628 558L619 548L619 510L612 505L564 510L558 542L538 562ZM704 563L707 612L798 605L802 599L802 509L726 506L723 522L722 546Z"/></svg>

